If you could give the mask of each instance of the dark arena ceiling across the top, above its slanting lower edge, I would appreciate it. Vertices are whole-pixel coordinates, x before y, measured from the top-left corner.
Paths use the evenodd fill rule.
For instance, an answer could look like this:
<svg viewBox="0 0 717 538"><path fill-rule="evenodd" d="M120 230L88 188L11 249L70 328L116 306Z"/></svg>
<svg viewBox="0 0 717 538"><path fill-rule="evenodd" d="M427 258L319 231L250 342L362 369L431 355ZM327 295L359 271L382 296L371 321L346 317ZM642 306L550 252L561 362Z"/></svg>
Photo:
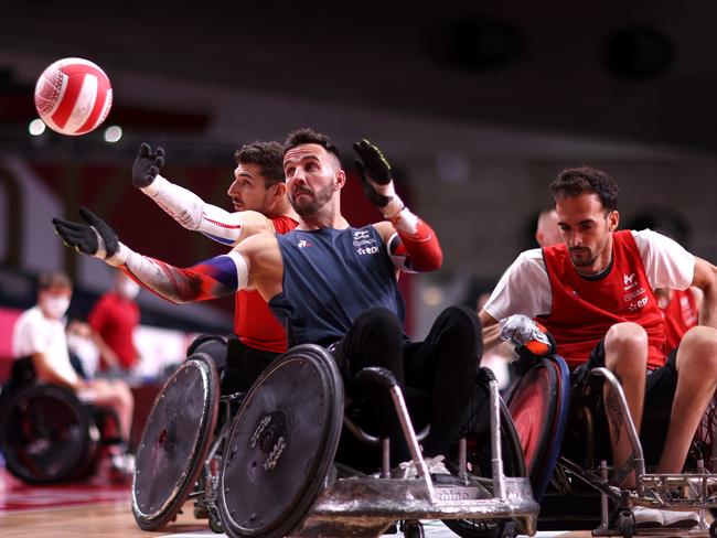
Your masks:
<svg viewBox="0 0 717 538"><path fill-rule="evenodd" d="M46 63L92 51L107 69L216 87L717 149L716 2L179 6L4 6L0 51Z"/></svg>

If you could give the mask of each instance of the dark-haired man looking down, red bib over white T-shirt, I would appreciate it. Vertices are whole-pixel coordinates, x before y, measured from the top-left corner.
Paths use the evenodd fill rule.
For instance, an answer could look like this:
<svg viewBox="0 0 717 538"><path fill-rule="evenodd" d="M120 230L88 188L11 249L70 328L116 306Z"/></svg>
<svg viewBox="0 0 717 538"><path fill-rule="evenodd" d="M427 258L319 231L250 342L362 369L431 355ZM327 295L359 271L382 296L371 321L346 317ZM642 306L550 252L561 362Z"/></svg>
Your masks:
<svg viewBox="0 0 717 538"><path fill-rule="evenodd" d="M661 234L618 232L618 186L600 170L564 170L550 191L563 244L521 254L480 312L481 321L490 327L512 314L536 318L571 369L604 365L621 379L638 428L643 409L659 407L653 399L672 400L670 417L662 417L668 428L657 472L679 473L717 386L717 268ZM704 292L700 325L687 331L665 364L664 322L653 290L691 286ZM631 449L612 398L607 391L604 407L613 460L622 465ZM643 438L645 452L651 444ZM656 514L648 520L638 512L639 525L695 523L689 514L686 520L651 510Z"/></svg>

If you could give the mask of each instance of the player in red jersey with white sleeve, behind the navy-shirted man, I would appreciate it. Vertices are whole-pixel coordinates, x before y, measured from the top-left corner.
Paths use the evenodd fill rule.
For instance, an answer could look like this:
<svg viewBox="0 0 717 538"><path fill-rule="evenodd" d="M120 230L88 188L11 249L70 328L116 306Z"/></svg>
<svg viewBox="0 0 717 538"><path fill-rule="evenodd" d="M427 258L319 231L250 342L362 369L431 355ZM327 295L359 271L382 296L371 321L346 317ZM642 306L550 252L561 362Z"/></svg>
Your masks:
<svg viewBox="0 0 717 538"><path fill-rule="evenodd" d="M205 203L160 174L164 150L142 143L132 183L188 229L229 247L263 232L286 234L299 216L289 204L279 142L257 141L234 153L234 182L227 191L234 212ZM287 349L286 330L256 291L235 294L234 333L223 375L225 391L246 390L264 367Z"/></svg>

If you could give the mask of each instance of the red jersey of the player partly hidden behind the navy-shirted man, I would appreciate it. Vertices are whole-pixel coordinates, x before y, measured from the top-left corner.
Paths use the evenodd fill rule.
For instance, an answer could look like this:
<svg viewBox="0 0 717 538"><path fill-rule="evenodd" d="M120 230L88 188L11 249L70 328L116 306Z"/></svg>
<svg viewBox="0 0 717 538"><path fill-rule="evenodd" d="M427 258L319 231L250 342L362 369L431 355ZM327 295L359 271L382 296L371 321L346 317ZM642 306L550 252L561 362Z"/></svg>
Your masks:
<svg viewBox="0 0 717 538"><path fill-rule="evenodd" d="M287 216L271 222L277 234L286 234L299 224ZM287 351L287 332L258 291L237 291L234 304L234 333L244 345L265 352Z"/></svg>

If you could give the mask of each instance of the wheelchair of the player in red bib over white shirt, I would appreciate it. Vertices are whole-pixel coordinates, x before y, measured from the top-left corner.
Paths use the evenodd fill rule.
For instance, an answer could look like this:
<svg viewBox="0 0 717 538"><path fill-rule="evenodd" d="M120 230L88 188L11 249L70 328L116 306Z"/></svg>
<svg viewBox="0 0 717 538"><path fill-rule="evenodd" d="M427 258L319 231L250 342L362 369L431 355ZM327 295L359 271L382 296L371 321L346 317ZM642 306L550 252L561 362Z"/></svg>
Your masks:
<svg viewBox="0 0 717 538"><path fill-rule="evenodd" d="M717 462L713 442L714 405L708 408L695 435L686 465L689 472L649 473L620 383L607 368L593 368L588 376L588 383L571 395L570 373L565 361L557 355L544 357L518 380L509 398L507 407L523 446L533 492L543 507L539 527L576 528L576 523L585 525L588 520L598 524L593 536L630 538L646 534L716 538L717 523L708 525L704 517L706 512L713 516L717 514L717 475L711 474ZM632 446L632 454L619 470L607 464L609 435L607 430L601 431L604 423L599 417L603 383L609 384L618 397ZM564 437L568 421L570 434ZM622 487L632 472L636 478L634 491ZM590 501L593 509L586 513ZM561 514L555 513L556 504L563 508ZM700 520L689 529L640 529L630 509L633 506L698 512Z"/></svg>

